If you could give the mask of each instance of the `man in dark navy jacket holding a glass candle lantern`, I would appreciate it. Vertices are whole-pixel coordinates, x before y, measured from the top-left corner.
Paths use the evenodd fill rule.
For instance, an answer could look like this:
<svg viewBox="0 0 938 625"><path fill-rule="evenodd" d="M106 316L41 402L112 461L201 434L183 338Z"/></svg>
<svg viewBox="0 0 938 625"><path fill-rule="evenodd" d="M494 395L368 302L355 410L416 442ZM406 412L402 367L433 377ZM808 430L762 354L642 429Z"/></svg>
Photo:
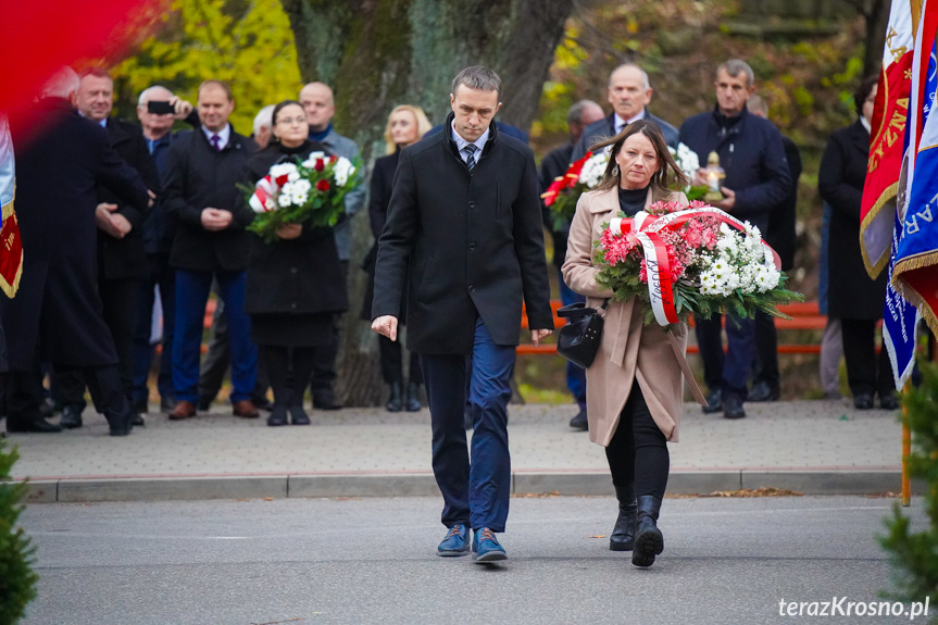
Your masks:
<svg viewBox="0 0 938 625"><path fill-rule="evenodd" d="M781 134L767 120L749 113L746 102L752 95L752 68L730 59L716 70L716 107L680 126L680 142L705 163L710 152L720 155L726 172L721 189L725 198L718 209L750 222L760 232L768 229L770 212L785 201L791 176L781 147ZM696 184L705 184L704 170ZM726 324L728 349L723 352L721 316L697 321L697 342L703 360L703 377L710 390L704 412L723 410L726 418L746 416L742 402L755 359L755 324L738 318Z"/></svg>

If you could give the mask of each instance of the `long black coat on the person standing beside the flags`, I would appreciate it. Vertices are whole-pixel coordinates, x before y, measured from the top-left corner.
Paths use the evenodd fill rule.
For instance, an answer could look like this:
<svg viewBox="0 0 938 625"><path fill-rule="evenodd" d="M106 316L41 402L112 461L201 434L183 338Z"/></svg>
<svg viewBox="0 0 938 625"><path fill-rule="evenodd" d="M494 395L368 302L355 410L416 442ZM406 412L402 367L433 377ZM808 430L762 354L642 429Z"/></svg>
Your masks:
<svg viewBox="0 0 938 625"><path fill-rule="evenodd" d="M860 252L860 202L868 153L870 133L858 120L830 135L821 159L817 190L831 209L827 240L827 310L831 317L883 317L887 272L870 279Z"/></svg>

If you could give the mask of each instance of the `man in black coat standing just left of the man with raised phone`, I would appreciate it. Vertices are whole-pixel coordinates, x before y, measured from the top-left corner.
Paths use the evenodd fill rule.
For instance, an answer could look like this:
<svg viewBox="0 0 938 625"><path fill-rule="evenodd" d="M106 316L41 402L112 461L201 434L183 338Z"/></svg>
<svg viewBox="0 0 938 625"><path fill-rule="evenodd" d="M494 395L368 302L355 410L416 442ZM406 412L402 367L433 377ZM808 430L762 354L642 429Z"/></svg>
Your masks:
<svg viewBox="0 0 938 625"><path fill-rule="evenodd" d="M114 103L114 82L111 76L98 67L86 70L78 76L82 80L75 98L78 113L108 132L111 147L140 174L143 184L155 197L162 185L142 132L129 122L111 117ZM111 329L117 349L121 384L133 405L137 289L147 270L141 233L149 210L137 211L127 202L122 202L105 185L98 188L98 293L104 304L104 323ZM77 372L54 373L52 396L62 405L59 424L67 428L82 427L85 380ZM135 412L134 425L143 425L143 417L138 412Z"/></svg>

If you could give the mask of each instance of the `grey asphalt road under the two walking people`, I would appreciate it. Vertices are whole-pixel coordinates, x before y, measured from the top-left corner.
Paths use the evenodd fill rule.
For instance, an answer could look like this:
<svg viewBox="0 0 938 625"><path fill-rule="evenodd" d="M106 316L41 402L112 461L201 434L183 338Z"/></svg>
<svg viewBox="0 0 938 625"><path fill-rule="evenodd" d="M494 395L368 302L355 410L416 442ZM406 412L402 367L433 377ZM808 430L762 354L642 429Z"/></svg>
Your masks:
<svg viewBox="0 0 938 625"><path fill-rule="evenodd" d="M666 499L665 551L649 570L609 551L610 498L513 499L502 535L510 559L499 566L435 555L440 505L436 498L33 505L22 521L38 546L40 582L24 623L910 622L779 615L789 601L842 597L846 610L880 600L891 568L876 536L888 499ZM910 509L918 528L921 507Z"/></svg>

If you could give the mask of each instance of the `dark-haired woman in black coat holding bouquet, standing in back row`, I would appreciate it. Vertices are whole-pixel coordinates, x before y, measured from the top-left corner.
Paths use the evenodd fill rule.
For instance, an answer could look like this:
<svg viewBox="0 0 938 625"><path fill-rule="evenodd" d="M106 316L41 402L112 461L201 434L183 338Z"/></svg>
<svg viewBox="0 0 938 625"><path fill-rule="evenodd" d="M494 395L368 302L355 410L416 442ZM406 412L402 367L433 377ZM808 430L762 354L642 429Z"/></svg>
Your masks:
<svg viewBox="0 0 938 625"><path fill-rule="evenodd" d="M303 107L286 100L274 109L272 143L248 163L251 184L277 163L304 160L325 151L312 142ZM245 309L251 315L251 338L264 364L274 407L267 425L309 425L303 389L314 364L314 347L326 345L334 317L349 301L333 229L286 224L279 239L252 238Z"/></svg>

